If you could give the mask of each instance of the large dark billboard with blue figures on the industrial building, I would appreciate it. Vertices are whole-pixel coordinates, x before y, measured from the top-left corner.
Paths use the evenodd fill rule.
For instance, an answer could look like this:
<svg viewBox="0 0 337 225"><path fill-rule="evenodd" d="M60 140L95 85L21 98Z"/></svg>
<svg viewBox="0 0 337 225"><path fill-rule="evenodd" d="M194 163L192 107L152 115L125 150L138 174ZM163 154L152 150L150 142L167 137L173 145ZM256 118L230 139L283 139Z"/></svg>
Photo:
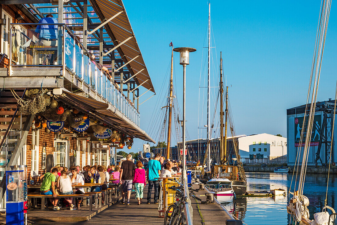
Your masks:
<svg viewBox="0 0 337 225"><path fill-rule="evenodd" d="M295 118L295 147L299 147L300 145L303 147L305 144L305 137L307 135L308 130L308 117L306 117L304 130L302 130L303 119L304 117ZM320 129L321 129L321 115L315 115L311 130L310 146L318 146L319 140L321 138L319 135ZM300 143L302 132L303 138L302 142Z"/></svg>

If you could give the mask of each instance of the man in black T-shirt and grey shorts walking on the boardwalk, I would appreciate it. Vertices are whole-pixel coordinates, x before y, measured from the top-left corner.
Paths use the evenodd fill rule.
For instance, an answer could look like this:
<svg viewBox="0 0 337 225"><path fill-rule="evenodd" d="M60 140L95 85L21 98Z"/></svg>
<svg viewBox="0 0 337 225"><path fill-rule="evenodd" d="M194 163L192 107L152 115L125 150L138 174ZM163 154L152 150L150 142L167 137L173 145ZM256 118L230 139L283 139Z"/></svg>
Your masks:
<svg viewBox="0 0 337 225"><path fill-rule="evenodd" d="M119 182L122 184L122 204L125 203L125 195L127 193L127 205L130 205L130 195L132 190L132 175L136 169L131 162L132 155L128 154L126 160L121 164L121 172Z"/></svg>

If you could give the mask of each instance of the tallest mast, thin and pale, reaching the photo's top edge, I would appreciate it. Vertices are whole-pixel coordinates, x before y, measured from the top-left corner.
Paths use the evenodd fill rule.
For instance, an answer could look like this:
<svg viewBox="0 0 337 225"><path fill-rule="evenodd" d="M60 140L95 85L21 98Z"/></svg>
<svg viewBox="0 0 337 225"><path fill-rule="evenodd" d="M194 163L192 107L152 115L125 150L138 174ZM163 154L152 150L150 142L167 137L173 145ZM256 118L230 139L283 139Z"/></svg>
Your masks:
<svg viewBox="0 0 337 225"><path fill-rule="evenodd" d="M208 164L207 169L208 171L211 170L211 147L210 147L210 94L211 94L211 76L210 76L210 53L211 53L211 3L208 3L208 88L207 88L207 157L208 157Z"/></svg>

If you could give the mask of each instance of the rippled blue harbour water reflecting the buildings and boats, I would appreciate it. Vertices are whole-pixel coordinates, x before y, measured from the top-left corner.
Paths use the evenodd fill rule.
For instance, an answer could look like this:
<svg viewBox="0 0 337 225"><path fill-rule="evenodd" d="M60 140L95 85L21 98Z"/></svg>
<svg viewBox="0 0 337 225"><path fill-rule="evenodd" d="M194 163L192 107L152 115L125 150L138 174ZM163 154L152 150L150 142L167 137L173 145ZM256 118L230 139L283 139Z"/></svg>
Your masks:
<svg viewBox="0 0 337 225"><path fill-rule="evenodd" d="M288 192L292 174L246 173L247 191L271 190L282 188ZM313 214L322 211L327 190L327 174L307 174L303 194L309 198L310 219ZM337 178L330 175L327 205L337 210ZM294 192L294 181L291 192ZM292 195L290 195L292 197ZM224 205L234 216L247 225L289 224L287 213L288 193L286 196L249 197L235 199ZM331 211L328 210L331 214Z"/></svg>

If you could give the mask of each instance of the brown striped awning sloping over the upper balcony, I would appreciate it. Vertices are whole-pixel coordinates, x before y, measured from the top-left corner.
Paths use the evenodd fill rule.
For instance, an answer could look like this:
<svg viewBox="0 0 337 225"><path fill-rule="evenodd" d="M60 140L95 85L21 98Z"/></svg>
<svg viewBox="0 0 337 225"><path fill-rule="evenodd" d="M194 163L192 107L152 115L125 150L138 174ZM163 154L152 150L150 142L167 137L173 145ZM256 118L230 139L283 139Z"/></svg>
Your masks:
<svg viewBox="0 0 337 225"><path fill-rule="evenodd" d="M114 39L117 42L116 44L120 44L121 42L132 36L130 40L117 48L117 51L121 56L125 56L127 62L138 56L136 59L128 63L128 66L131 68L131 76L139 72L134 77L136 83L138 85L143 83L143 87L155 93L150 75L146 68L142 53L137 44L135 34L133 33L122 0L90 0L90 2L93 1L97 4L99 10L102 12L102 15L104 17L102 18L103 20L107 20L119 13L120 11L123 11L121 14L119 14L116 18L108 23L108 26L113 32ZM124 64L126 64L127 62L124 62Z"/></svg>

